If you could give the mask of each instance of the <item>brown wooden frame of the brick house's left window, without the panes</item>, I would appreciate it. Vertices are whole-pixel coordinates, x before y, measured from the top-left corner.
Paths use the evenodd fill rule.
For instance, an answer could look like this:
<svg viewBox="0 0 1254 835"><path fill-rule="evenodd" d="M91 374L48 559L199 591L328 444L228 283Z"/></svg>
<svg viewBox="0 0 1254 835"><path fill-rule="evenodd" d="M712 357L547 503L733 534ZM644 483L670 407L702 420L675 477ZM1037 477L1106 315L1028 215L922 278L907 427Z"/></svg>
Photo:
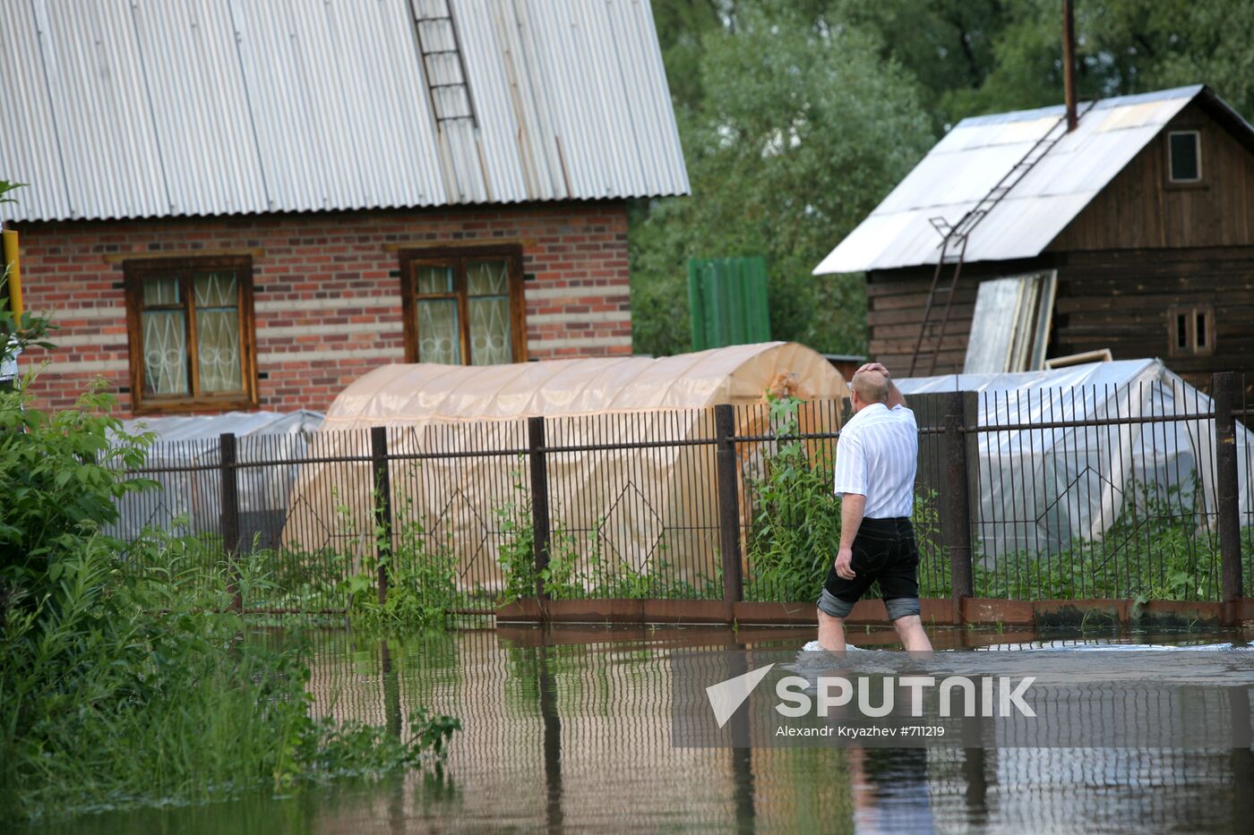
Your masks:
<svg viewBox="0 0 1254 835"><path fill-rule="evenodd" d="M171 411L227 411L232 409L257 409L257 339L256 318L252 297L252 258L246 256L206 256L183 258L142 258L124 261L125 273L123 286L127 303L127 342L130 355L130 409L137 414L159 414ZM233 270L238 282L236 287L240 311L240 357L242 392L221 395L198 395L199 367L194 361L196 351L196 296L191 290L193 272L212 270ZM149 277L178 273L182 282L183 310L187 327L187 375L192 386L191 396L161 396L144 394L144 347L143 347L143 283Z"/></svg>

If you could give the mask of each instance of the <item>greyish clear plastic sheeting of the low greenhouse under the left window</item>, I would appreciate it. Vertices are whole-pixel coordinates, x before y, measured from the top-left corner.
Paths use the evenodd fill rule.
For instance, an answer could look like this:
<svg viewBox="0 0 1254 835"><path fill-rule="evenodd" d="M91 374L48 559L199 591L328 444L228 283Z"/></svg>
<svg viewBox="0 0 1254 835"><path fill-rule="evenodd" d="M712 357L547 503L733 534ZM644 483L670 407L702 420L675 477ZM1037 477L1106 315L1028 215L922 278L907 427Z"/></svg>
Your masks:
<svg viewBox="0 0 1254 835"><path fill-rule="evenodd" d="M118 504L119 519L110 533L134 538L144 527L179 529L188 533L216 533L221 525L222 481L218 464L218 438L234 434L237 459L290 460L305 455L310 435L322 424L322 414L300 410L229 411L221 415L172 415L134 418L123 421L128 434L153 433L144 474L161 485L159 490L128 493ZM265 444L251 439L266 438ZM168 471L162 471L168 468ZM187 468L187 469L179 469ZM267 465L240 470L241 539L251 545L256 538L275 544L287 514L296 465Z"/></svg>

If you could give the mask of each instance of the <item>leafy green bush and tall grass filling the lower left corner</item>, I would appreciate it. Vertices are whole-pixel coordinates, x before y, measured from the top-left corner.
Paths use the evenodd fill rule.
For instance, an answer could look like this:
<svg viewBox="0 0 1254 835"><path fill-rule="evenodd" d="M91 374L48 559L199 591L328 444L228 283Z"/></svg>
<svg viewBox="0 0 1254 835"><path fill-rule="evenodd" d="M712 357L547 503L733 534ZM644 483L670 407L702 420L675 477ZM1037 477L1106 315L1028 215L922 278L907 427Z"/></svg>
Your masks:
<svg viewBox="0 0 1254 835"><path fill-rule="evenodd" d="M0 394L0 821L438 765L454 718L399 735L312 715L307 648L228 611L265 586L258 560L102 533L145 486L118 478L148 439L110 405Z"/></svg>

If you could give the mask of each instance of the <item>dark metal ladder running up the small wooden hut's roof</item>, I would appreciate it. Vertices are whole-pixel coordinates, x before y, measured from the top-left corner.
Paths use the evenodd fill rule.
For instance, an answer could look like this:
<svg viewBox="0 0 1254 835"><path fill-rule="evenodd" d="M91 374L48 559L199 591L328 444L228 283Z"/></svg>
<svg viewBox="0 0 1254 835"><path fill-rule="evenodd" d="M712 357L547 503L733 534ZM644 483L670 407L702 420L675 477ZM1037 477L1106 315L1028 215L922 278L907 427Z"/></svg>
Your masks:
<svg viewBox="0 0 1254 835"><path fill-rule="evenodd" d="M1077 114L1077 119L1090 110L1097 100L1087 102L1085 108ZM997 184L993 186L978 203L963 214L957 223L949 226L943 217L929 218L932 227L940 236L940 257L937 258L935 272L932 273L932 287L928 290L928 301L923 307L923 322L919 325L919 337L914 342L914 354L910 356L910 376L913 377L919 365L919 354L923 350L923 340L928 333L928 325L932 321L932 310L937 305L937 296L944 295L944 308L940 315L939 333L935 336L934 349L928 356L928 370L924 376L932 376L937 367L937 357L944 346L944 333L949 326L949 313L953 310L953 297L958 290L958 278L962 276L962 265L967 258L967 239L972 229L988 216L1002 198L1014 188L1050 150L1058 144L1062 137L1067 135L1067 117L1062 115L1052 128L1050 128L1036 143L1028 148L1023 158L1006 172ZM947 265L953 265L953 275L947 286L940 286L940 276Z"/></svg>

